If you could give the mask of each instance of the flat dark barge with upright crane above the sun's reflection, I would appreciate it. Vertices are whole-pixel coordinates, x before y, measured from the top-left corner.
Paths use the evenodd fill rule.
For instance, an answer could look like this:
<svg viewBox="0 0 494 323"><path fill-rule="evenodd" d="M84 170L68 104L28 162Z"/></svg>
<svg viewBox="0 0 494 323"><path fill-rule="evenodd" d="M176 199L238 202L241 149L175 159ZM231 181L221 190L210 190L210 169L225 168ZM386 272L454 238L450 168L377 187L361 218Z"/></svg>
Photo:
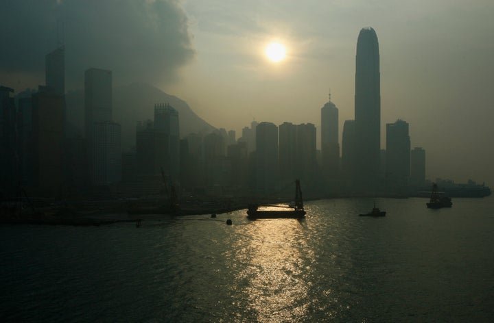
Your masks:
<svg viewBox="0 0 494 323"><path fill-rule="evenodd" d="M305 218L303 198L300 181L295 181L295 204L294 205L259 205L249 204L247 216L250 219L277 219L277 218ZM269 207L269 209L259 209Z"/></svg>

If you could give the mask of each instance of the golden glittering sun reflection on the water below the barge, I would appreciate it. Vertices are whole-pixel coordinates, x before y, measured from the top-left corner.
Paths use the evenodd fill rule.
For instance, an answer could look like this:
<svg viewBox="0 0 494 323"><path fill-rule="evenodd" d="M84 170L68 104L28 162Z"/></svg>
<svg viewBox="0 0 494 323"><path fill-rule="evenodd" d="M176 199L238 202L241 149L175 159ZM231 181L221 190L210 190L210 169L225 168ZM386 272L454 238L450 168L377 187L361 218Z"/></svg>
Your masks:
<svg viewBox="0 0 494 323"><path fill-rule="evenodd" d="M307 272L311 258L302 239L301 222L293 219L256 220L234 246L242 259L237 279L259 322L303 318L309 307ZM303 252L301 252L303 250Z"/></svg>

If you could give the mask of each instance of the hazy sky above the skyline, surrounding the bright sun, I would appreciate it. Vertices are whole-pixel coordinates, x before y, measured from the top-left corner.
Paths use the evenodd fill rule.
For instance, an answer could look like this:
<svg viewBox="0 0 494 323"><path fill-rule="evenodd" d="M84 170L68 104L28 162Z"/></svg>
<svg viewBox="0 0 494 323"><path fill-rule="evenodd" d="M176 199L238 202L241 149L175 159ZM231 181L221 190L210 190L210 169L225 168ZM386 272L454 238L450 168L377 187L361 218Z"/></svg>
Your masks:
<svg viewBox="0 0 494 323"><path fill-rule="evenodd" d="M493 16L491 0L3 0L0 83L19 92L44 82L59 18L69 90L84 69L109 68L115 85L148 81L239 137L252 118L320 128L331 88L341 140L354 116L357 36L371 26L381 146L386 123L401 118L412 147L426 150L428 178L493 186ZM275 40L287 47L279 63L263 53Z"/></svg>

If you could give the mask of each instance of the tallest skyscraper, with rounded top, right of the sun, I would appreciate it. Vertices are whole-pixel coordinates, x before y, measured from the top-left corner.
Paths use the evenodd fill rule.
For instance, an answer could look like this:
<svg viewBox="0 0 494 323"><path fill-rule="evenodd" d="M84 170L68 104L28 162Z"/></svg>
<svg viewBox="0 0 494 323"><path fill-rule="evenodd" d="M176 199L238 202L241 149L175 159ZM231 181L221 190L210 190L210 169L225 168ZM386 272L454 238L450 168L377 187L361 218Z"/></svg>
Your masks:
<svg viewBox="0 0 494 323"><path fill-rule="evenodd" d="M379 183L381 81L379 43L371 27L360 30L355 66L355 183L362 190Z"/></svg>

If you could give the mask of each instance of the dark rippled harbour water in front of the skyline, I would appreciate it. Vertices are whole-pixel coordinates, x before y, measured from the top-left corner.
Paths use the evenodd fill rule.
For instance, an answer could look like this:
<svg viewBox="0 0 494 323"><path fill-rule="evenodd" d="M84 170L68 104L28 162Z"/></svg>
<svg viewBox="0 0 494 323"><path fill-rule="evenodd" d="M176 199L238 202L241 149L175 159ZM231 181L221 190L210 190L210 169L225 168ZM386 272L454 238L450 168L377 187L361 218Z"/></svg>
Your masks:
<svg viewBox="0 0 494 323"><path fill-rule="evenodd" d="M103 227L0 226L0 320L494 322L493 198L306 203ZM233 220L227 226L227 218Z"/></svg>

